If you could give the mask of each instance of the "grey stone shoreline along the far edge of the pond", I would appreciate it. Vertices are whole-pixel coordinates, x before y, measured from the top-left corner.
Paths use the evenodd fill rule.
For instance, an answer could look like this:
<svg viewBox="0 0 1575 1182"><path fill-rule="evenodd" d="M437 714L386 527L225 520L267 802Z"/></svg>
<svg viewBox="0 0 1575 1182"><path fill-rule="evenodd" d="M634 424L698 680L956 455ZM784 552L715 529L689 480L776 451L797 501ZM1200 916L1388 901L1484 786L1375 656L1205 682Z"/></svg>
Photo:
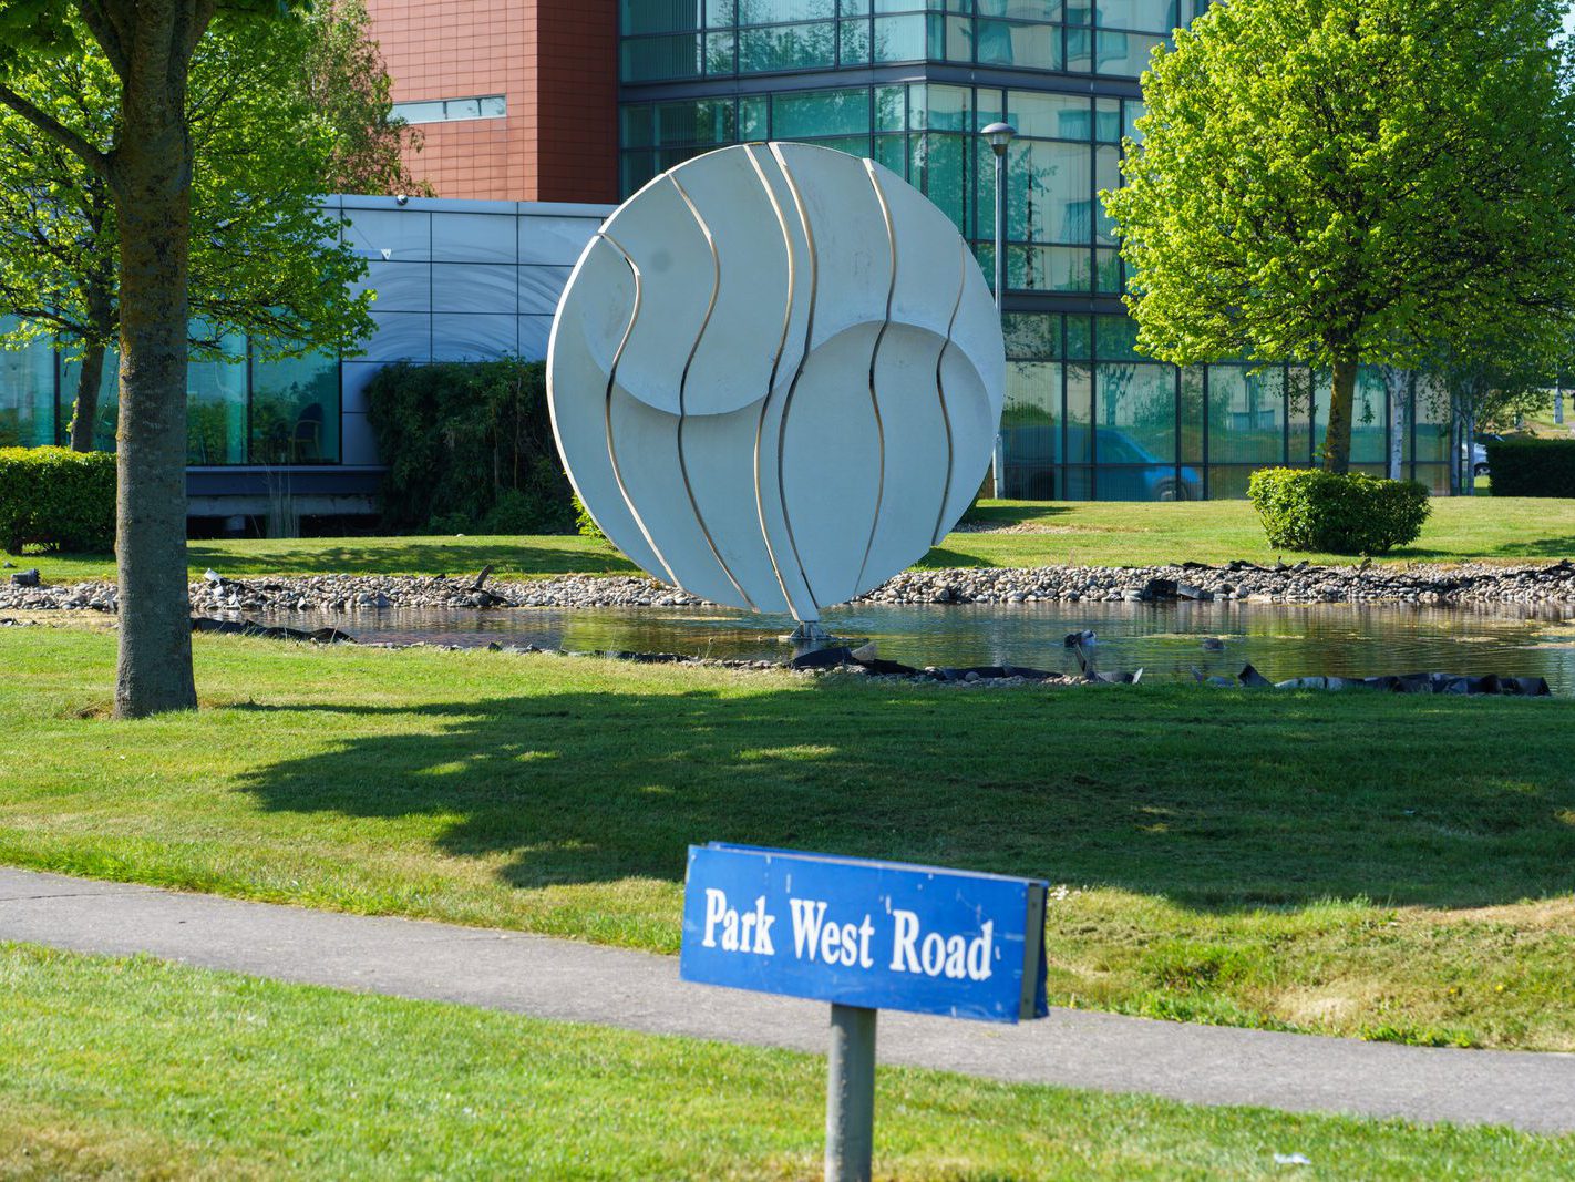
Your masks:
<svg viewBox="0 0 1575 1182"><path fill-rule="evenodd" d="M559 575L490 582L472 575L298 575L205 578L192 611L329 611L387 608L650 607L690 608L702 599L628 575ZM862 596L865 604L1055 604L1228 600L1247 604L1575 604L1575 564L1205 566L907 571ZM0 611L117 610L107 582L17 586L0 583Z"/></svg>

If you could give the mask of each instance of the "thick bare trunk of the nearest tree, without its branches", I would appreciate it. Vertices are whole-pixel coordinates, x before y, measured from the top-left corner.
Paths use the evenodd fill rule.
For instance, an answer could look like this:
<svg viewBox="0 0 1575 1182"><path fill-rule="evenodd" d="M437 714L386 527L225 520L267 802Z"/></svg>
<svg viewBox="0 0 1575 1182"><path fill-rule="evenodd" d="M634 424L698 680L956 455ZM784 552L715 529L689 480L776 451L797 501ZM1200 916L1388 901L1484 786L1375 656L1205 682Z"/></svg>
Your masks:
<svg viewBox="0 0 1575 1182"><path fill-rule="evenodd" d="M150 41L154 41L150 38ZM132 61L113 159L120 216L120 662L115 716L194 709L186 583L186 282L191 139L186 63Z"/></svg>

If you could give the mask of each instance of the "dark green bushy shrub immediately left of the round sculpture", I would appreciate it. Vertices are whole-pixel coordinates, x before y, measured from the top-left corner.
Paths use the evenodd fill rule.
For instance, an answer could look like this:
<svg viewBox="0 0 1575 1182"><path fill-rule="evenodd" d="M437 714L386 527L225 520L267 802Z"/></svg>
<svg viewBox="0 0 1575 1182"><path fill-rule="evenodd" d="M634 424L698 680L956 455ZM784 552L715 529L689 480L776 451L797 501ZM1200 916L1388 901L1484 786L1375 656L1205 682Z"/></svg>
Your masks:
<svg viewBox="0 0 1575 1182"><path fill-rule="evenodd" d="M384 528L573 533L540 361L387 366L367 386L367 418L387 465Z"/></svg>

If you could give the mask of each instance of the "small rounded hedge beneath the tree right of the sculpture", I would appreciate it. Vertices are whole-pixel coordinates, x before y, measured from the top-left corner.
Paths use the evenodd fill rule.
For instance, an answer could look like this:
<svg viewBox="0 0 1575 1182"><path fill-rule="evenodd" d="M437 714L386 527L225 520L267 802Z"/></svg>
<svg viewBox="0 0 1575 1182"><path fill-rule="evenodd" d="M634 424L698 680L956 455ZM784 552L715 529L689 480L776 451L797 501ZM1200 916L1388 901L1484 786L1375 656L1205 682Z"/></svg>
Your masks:
<svg viewBox="0 0 1575 1182"><path fill-rule="evenodd" d="M1255 471L1247 500L1269 545L1331 555L1381 555L1414 542L1432 512L1427 487L1416 481L1318 468Z"/></svg>

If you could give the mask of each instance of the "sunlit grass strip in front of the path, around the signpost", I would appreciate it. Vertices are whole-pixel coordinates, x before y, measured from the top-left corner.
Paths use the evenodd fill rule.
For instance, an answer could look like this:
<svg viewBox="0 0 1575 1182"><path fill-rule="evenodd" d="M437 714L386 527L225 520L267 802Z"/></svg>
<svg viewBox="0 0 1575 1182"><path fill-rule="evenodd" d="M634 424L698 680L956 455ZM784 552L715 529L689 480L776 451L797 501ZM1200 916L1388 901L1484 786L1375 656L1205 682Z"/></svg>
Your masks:
<svg viewBox="0 0 1575 1182"><path fill-rule="evenodd" d="M825 1065L0 944L6 1177L819 1176ZM1575 1138L882 1069L901 1179L1564 1179Z"/></svg>

